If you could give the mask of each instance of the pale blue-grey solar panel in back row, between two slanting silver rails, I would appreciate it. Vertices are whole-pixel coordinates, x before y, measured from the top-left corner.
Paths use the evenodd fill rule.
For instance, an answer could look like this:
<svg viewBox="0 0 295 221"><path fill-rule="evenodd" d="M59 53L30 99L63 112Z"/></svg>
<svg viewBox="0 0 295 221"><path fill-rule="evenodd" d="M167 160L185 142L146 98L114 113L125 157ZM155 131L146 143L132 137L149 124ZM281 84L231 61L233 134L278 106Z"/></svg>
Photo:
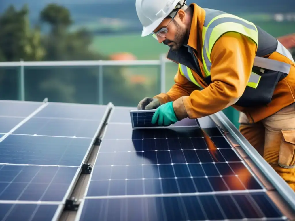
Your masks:
<svg viewBox="0 0 295 221"><path fill-rule="evenodd" d="M49 103L14 133L93 138L105 110L105 106Z"/></svg>

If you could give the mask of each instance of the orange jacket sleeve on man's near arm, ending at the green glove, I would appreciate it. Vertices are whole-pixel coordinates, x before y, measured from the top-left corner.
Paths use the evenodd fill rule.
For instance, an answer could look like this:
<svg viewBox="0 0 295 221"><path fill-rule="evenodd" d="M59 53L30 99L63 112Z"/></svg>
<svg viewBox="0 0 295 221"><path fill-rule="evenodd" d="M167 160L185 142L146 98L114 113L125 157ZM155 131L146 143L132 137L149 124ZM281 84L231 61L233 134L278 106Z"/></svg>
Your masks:
<svg viewBox="0 0 295 221"><path fill-rule="evenodd" d="M222 35L211 52L212 83L173 102L178 118L208 116L237 102L250 79L256 49L255 42L242 34Z"/></svg>

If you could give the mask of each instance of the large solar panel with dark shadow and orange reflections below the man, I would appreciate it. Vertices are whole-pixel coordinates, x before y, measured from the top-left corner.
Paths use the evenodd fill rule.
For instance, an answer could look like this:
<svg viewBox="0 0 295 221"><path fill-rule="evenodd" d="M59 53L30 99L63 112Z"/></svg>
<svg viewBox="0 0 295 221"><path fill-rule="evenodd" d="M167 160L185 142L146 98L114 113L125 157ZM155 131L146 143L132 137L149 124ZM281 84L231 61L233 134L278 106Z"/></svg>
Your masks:
<svg viewBox="0 0 295 221"><path fill-rule="evenodd" d="M90 176L80 220L286 218L216 127L112 122Z"/></svg>

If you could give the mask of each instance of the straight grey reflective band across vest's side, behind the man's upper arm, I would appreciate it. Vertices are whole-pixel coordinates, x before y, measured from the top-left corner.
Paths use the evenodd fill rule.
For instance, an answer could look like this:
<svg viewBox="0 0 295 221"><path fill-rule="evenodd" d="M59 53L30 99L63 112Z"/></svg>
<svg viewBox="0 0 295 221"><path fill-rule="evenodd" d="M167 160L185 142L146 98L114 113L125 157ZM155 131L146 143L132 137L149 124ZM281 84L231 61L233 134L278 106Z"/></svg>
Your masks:
<svg viewBox="0 0 295 221"><path fill-rule="evenodd" d="M286 74L288 74L291 69L291 65L287 63L257 56L254 58L253 66L273 71L279 71Z"/></svg>

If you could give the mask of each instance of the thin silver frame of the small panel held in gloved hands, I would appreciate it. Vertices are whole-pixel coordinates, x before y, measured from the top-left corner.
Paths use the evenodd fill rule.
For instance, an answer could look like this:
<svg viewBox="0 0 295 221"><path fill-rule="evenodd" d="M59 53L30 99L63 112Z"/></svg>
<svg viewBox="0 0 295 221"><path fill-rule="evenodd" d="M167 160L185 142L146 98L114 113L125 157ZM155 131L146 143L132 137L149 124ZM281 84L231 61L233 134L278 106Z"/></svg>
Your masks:
<svg viewBox="0 0 295 221"><path fill-rule="evenodd" d="M170 126L153 126L153 127L135 127L134 126L132 113L151 113L151 112L155 112L155 111L156 111L156 109L153 109L153 110L130 110L129 112L130 112L132 129L157 129L157 128L175 128L175 127L177 127L177 128L178 127L197 127L197 128L199 128L200 127L200 123L197 119L189 119L189 118L184 118L183 120L178 121L175 124L172 124ZM181 125L180 122L187 121L187 120L195 121L196 125L190 125L190 126ZM180 124L180 125L178 125L178 124Z"/></svg>

